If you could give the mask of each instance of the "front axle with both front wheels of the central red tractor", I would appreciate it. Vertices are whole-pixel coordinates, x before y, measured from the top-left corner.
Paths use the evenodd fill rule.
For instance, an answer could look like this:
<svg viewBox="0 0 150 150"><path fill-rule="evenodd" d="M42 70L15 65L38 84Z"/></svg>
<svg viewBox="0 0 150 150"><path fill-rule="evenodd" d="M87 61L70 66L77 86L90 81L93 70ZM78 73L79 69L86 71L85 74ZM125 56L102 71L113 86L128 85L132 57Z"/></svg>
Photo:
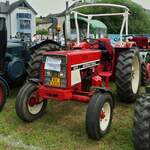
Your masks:
<svg viewBox="0 0 150 150"><path fill-rule="evenodd" d="M80 88L81 84L76 85L76 88L77 86ZM48 99L89 102L85 119L87 135L99 140L111 126L114 108L112 93L108 88L102 87L94 88L90 92L79 91L76 88L52 88L44 86L37 79L30 79L17 95L16 113L23 121L32 122L43 115Z"/></svg>

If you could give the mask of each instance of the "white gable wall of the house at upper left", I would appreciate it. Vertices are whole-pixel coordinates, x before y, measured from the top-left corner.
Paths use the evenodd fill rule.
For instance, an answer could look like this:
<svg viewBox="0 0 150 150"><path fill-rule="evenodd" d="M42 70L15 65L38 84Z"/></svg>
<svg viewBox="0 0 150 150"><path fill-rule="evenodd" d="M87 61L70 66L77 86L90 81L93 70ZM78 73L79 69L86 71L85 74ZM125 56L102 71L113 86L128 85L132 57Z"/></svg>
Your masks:
<svg viewBox="0 0 150 150"><path fill-rule="evenodd" d="M18 17L17 14L30 14L31 18ZM31 24L30 29L21 29L20 28L20 20L29 21ZM35 13L26 7L16 8L10 14L10 36L15 37L18 33L31 34L31 38L36 33L36 21L35 21Z"/></svg>

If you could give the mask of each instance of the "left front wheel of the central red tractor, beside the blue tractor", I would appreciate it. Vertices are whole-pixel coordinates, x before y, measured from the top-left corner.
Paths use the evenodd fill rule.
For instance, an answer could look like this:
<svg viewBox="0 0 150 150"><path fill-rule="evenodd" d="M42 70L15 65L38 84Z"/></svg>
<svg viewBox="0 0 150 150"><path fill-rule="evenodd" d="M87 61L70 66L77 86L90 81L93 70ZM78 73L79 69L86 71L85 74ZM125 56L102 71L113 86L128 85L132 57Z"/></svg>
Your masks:
<svg viewBox="0 0 150 150"><path fill-rule="evenodd" d="M38 102L37 85L27 82L19 91L16 98L16 113L26 122L32 122L43 115L47 100Z"/></svg>

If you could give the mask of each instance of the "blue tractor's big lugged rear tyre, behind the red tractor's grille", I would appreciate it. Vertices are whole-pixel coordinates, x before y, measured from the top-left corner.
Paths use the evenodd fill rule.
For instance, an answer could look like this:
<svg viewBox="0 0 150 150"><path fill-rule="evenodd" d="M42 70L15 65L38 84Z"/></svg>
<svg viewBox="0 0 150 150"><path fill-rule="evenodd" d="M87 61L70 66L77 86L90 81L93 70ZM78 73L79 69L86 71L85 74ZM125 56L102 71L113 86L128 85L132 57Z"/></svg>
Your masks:
<svg viewBox="0 0 150 150"><path fill-rule="evenodd" d="M54 43L48 43L34 50L28 62L27 73L30 78L40 77L40 68L42 62L42 54L48 51L60 50L60 47Z"/></svg>

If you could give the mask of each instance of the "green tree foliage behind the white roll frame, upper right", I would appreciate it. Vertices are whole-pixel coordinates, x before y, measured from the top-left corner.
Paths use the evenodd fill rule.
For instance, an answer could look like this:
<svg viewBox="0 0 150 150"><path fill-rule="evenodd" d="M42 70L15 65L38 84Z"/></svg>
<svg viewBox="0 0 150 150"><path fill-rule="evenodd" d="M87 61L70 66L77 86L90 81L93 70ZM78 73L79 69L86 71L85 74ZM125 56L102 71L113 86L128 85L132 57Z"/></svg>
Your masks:
<svg viewBox="0 0 150 150"><path fill-rule="evenodd" d="M129 33L131 34L150 34L150 15L143 9L142 6L131 0L97 0L98 3L113 3L125 5L130 9L129 15ZM118 10L118 11L117 11ZM116 8L91 8L81 10L90 13L106 13L106 12L120 12L121 9ZM122 17L99 17L96 18L104 22L108 27L108 33L119 33Z"/></svg>

